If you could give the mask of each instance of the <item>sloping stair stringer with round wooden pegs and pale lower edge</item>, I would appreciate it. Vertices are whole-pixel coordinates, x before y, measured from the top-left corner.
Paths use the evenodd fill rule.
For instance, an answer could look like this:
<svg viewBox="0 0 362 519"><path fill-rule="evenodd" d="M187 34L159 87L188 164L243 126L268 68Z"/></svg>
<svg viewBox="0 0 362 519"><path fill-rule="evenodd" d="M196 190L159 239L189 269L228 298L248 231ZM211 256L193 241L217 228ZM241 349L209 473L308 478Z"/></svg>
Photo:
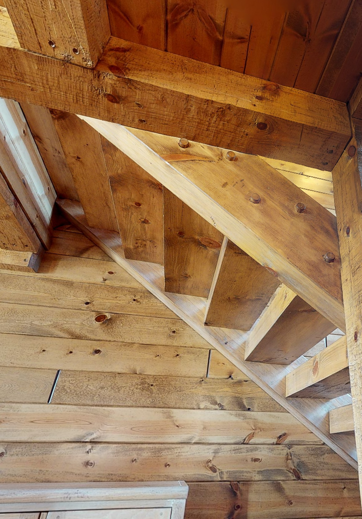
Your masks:
<svg viewBox="0 0 362 519"><path fill-rule="evenodd" d="M222 148L181 148L174 137L81 118L344 329L337 223L327 209L254 155L228 160Z"/></svg>

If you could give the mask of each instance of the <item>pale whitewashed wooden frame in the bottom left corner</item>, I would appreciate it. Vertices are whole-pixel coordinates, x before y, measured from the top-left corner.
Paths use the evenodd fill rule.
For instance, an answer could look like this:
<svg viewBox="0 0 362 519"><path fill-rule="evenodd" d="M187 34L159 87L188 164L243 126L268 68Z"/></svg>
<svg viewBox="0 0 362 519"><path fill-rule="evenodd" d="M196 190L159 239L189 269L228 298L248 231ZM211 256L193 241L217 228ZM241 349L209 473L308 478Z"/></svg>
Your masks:
<svg viewBox="0 0 362 519"><path fill-rule="evenodd" d="M183 519L184 481L0 485L0 519Z"/></svg>

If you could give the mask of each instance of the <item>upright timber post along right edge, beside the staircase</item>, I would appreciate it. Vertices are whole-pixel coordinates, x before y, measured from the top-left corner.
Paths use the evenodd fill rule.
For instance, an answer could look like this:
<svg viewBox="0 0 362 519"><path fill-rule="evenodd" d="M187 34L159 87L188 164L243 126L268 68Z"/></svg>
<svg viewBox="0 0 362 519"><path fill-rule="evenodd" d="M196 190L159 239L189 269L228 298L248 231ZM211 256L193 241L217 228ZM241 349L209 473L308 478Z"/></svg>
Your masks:
<svg viewBox="0 0 362 519"><path fill-rule="evenodd" d="M347 352L362 490L362 168L361 121L352 122L353 138L333 169L341 256L341 278L346 322Z"/></svg>

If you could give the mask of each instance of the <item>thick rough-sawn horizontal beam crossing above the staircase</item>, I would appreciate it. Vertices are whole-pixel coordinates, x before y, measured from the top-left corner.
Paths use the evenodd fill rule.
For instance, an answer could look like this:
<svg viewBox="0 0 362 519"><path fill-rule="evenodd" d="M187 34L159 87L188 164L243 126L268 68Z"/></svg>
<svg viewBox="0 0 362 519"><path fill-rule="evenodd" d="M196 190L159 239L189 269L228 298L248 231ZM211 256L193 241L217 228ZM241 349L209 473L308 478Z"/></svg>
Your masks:
<svg viewBox="0 0 362 519"><path fill-rule="evenodd" d="M0 95L331 170L351 137L344 103L111 37L88 70L0 48Z"/></svg>

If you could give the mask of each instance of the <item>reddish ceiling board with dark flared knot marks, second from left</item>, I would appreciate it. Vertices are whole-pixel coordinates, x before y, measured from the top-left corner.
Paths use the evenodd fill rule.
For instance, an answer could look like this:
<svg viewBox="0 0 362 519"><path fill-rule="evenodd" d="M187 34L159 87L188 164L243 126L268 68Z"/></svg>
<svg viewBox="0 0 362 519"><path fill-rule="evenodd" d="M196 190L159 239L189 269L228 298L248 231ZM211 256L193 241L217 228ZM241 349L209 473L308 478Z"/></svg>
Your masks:
<svg viewBox="0 0 362 519"><path fill-rule="evenodd" d="M223 0L167 0L167 50L219 65L226 18Z"/></svg>

